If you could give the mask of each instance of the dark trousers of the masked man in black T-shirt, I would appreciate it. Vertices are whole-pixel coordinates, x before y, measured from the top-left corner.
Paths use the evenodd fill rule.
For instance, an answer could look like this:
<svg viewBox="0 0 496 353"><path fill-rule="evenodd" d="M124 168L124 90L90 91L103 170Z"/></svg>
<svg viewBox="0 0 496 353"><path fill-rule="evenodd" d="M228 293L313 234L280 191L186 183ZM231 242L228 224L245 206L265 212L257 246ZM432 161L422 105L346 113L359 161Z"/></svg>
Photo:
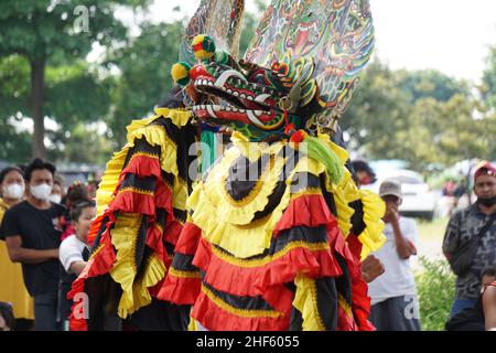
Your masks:
<svg viewBox="0 0 496 353"><path fill-rule="evenodd" d="M60 331L57 303L57 291L34 296L34 330Z"/></svg>

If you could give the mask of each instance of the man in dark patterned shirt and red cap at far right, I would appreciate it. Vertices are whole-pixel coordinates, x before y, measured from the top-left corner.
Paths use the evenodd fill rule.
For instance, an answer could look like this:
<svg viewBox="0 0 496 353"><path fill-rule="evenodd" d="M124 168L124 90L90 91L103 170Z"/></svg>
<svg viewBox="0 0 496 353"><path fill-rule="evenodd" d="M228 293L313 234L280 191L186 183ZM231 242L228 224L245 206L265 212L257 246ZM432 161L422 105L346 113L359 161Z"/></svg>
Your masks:
<svg viewBox="0 0 496 353"><path fill-rule="evenodd" d="M496 264L496 169L482 163L474 174L477 202L451 217L443 239L443 253L456 275L456 293L451 315L473 308L479 295L481 274Z"/></svg>

